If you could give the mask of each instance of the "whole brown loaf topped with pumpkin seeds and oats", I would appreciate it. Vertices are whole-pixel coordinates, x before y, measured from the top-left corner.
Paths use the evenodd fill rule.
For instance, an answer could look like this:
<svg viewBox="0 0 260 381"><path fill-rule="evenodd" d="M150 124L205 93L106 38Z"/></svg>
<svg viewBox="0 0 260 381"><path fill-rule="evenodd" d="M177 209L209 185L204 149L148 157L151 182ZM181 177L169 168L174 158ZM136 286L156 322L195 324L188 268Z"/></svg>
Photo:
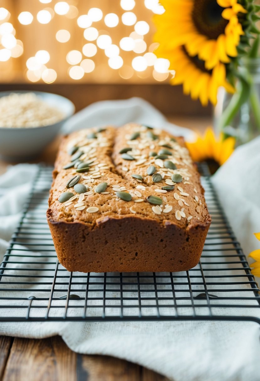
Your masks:
<svg viewBox="0 0 260 381"><path fill-rule="evenodd" d="M210 215L183 138L129 123L63 139L48 224L69 271L183 271L199 262Z"/></svg>

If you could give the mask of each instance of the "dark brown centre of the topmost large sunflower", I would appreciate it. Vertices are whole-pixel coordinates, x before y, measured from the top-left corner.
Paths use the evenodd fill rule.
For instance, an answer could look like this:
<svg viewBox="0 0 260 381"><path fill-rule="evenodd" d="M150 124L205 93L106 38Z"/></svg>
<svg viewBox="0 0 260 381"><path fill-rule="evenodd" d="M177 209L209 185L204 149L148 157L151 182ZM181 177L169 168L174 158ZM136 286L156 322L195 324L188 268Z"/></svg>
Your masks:
<svg viewBox="0 0 260 381"><path fill-rule="evenodd" d="M210 39L217 40L225 33L228 20L221 13L225 8L218 5L217 0L194 0L192 19L196 29Z"/></svg>

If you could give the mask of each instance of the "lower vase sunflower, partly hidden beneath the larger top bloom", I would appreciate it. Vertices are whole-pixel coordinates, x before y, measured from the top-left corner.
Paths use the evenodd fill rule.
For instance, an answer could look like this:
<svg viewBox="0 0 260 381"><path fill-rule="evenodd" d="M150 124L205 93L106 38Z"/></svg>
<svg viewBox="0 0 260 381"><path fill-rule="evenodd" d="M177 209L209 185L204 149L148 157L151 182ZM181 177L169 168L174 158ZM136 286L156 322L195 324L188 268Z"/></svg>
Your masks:
<svg viewBox="0 0 260 381"><path fill-rule="evenodd" d="M183 92L191 94L191 98L200 99L206 106L208 101L217 103L217 90L223 86L228 92L233 93L234 88L226 81L226 67L218 63L212 70L205 68L204 61L197 56L192 57L185 46L178 46L172 50L157 48L156 54L168 58L170 69L175 70L175 77L171 79L172 85L183 84Z"/></svg>

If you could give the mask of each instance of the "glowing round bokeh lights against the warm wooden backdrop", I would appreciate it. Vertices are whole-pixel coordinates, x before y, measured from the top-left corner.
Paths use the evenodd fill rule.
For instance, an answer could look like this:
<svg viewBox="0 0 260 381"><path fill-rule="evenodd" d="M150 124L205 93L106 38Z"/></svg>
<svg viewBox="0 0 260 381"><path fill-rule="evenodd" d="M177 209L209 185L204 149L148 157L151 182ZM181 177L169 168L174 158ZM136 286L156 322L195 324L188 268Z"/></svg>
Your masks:
<svg viewBox="0 0 260 381"><path fill-rule="evenodd" d="M154 54L157 44L151 40L151 16L164 12L159 0L141 0L138 6L135 0L116 0L104 9L88 9L78 1L38 0L37 3L36 7L28 3L24 10L19 7L20 13L16 15L12 14L14 8L0 8L0 65L22 56L21 62L26 66L24 75L30 82L64 81L66 72L71 80L85 78L94 82L100 82L100 78L101 81L116 78L116 75L123 80L153 78L161 82L173 74L169 70L170 62ZM38 50L24 57L24 45L26 54L30 46L23 38L18 39L19 35L16 37L17 23L18 32L22 28L27 35L28 31L36 36L47 35L49 30L55 29L51 43L58 44L57 51L41 40L36 45ZM61 46L64 56L60 56ZM60 70L59 65L65 65L65 70Z"/></svg>

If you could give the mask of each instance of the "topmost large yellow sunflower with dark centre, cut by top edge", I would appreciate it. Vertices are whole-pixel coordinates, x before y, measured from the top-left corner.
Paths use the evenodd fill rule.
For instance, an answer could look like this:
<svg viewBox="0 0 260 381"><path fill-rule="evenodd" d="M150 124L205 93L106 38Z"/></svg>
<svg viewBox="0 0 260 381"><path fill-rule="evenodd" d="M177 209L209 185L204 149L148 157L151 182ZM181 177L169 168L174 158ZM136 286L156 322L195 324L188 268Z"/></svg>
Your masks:
<svg viewBox="0 0 260 381"><path fill-rule="evenodd" d="M238 56L244 35L238 16L247 10L238 0L161 0L165 13L154 16L155 41L161 51L185 46L210 70L219 62L227 64Z"/></svg>

